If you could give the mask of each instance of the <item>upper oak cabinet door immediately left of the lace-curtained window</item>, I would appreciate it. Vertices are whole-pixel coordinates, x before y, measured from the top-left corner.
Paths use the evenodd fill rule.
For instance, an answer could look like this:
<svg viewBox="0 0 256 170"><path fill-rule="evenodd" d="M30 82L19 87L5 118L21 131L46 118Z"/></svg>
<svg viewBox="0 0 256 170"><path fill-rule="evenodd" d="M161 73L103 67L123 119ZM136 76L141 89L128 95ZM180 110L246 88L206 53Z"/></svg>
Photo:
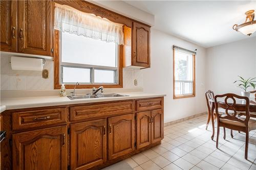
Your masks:
<svg viewBox="0 0 256 170"><path fill-rule="evenodd" d="M18 52L51 56L51 1L18 1Z"/></svg>

